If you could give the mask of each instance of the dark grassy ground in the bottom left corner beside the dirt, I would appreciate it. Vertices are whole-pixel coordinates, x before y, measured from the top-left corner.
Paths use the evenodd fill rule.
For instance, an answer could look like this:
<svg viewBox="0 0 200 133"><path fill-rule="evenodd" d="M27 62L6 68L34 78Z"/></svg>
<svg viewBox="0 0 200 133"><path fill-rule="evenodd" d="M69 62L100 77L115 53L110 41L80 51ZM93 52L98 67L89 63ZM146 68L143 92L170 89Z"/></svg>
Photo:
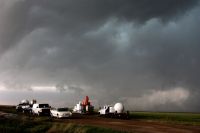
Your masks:
<svg viewBox="0 0 200 133"><path fill-rule="evenodd" d="M48 117L27 117L0 119L1 133L121 133L108 128L100 128L74 123L53 122Z"/></svg>

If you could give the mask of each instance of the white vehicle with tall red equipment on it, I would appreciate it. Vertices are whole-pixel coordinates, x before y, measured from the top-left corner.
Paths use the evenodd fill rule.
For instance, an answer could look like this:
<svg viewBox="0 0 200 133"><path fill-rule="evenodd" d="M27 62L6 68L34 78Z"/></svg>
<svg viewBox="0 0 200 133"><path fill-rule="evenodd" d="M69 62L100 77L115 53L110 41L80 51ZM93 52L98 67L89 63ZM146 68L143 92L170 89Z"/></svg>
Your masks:
<svg viewBox="0 0 200 133"><path fill-rule="evenodd" d="M73 112L80 113L80 114L91 114L94 112L94 106L91 105L89 102L89 97L86 96L83 101L79 101L76 106L74 106Z"/></svg>

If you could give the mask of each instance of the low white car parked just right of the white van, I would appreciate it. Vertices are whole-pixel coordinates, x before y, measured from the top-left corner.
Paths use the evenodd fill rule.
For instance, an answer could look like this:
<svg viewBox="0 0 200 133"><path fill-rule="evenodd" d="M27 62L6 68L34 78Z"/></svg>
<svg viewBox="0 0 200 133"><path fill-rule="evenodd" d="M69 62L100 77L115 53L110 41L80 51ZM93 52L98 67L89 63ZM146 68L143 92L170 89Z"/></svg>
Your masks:
<svg viewBox="0 0 200 133"><path fill-rule="evenodd" d="M72 116L72 112L68 108L52 108L50 110L51 117L68 118Z"/></svg>

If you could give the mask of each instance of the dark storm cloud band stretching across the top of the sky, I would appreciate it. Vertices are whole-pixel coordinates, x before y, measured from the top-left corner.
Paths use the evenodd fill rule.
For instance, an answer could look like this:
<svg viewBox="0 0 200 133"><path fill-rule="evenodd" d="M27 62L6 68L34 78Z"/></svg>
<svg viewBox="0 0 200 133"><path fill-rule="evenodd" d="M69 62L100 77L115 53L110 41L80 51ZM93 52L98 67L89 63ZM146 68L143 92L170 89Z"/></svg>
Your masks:
<svg viewBox="0 0 200 133"><path fill-rule="evenodd" d="M168 20L196 3L197 0L1 0L1 52L34 28L83 32L101 26L110 17L140 22L151 18Z"/></svg>

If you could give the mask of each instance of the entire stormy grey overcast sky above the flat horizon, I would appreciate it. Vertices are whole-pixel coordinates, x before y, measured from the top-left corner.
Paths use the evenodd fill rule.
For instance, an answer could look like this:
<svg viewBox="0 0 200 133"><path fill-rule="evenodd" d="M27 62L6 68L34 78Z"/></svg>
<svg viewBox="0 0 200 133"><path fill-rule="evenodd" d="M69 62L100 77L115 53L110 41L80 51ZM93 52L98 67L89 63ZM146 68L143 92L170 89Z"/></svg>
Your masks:
<svg viewBox="0 0 200 133"><path fill-rule="evenodd" d="M200 111L198 0L0 0L0 104Z"/></svg>

